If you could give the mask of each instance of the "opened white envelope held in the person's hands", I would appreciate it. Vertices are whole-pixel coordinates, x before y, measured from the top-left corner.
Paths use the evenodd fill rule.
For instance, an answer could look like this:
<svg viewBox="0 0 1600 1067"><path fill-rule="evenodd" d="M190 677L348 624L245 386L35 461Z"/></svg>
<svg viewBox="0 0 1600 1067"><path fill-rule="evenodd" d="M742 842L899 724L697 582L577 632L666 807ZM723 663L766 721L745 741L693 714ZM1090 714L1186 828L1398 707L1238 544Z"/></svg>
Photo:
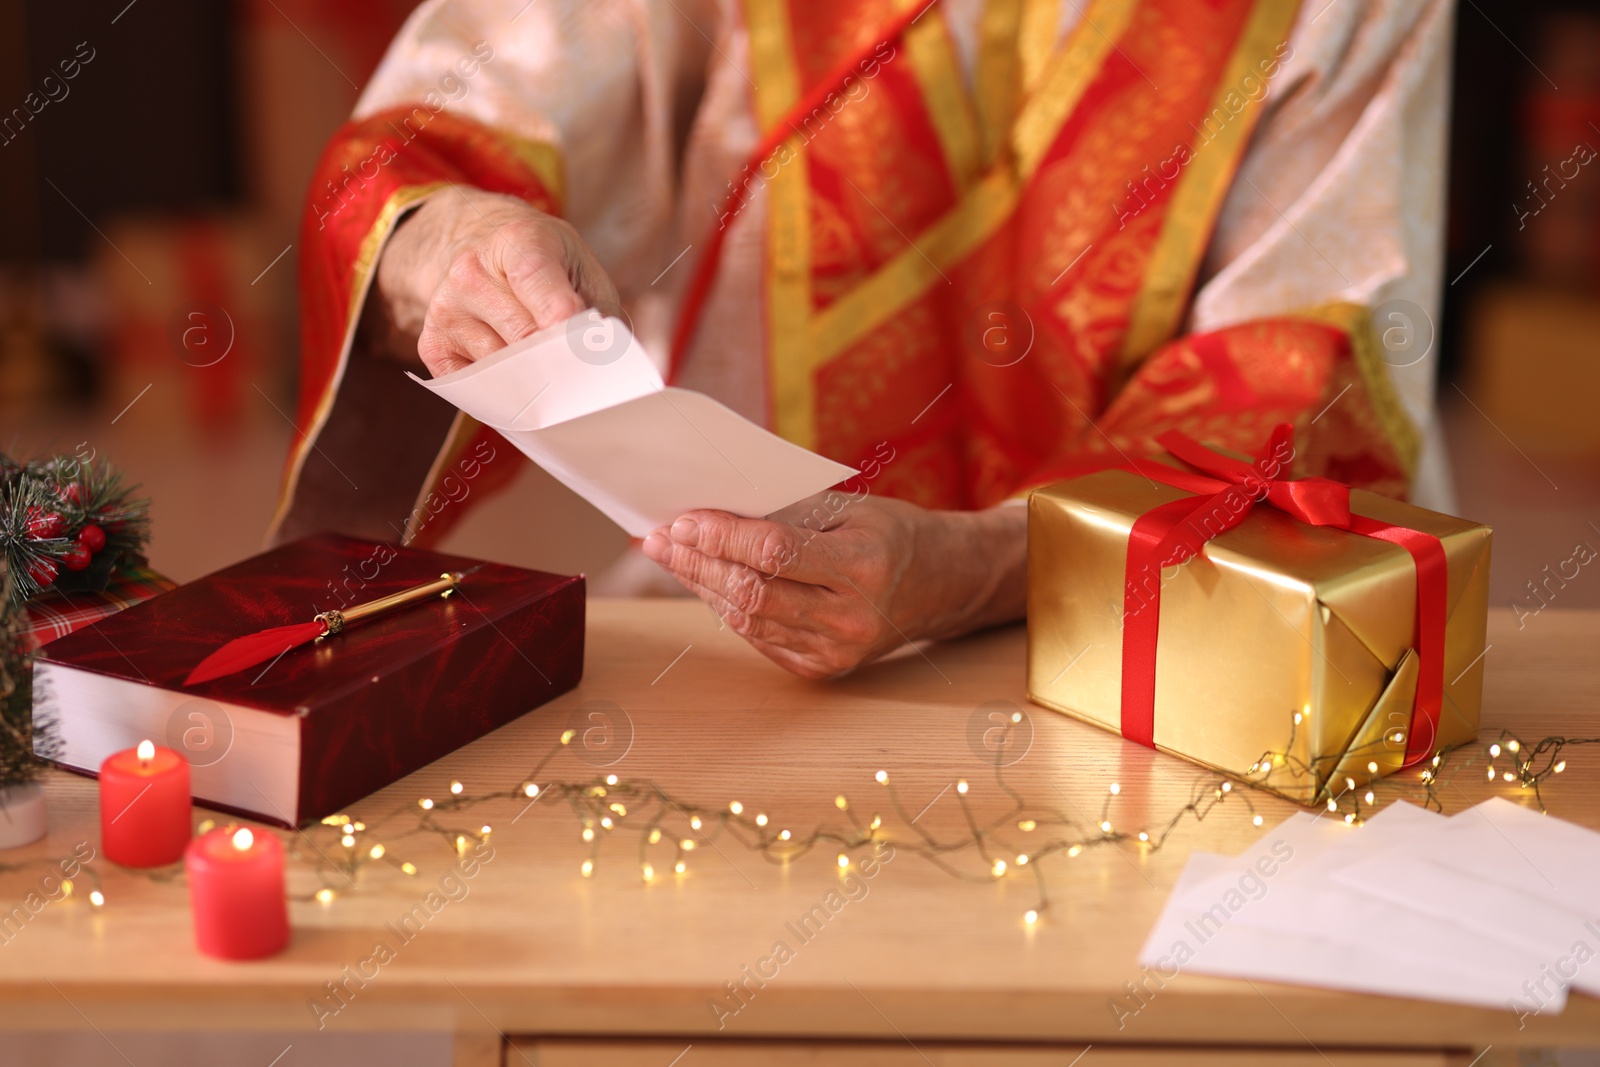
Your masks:
<svg viewBox="0 0 1600 1067"><path fill-rule="evenodd" d="M694 509L758 518L859 474L662 386L629 328L594 310L451 374L411 378L635 537Z"/></svg>

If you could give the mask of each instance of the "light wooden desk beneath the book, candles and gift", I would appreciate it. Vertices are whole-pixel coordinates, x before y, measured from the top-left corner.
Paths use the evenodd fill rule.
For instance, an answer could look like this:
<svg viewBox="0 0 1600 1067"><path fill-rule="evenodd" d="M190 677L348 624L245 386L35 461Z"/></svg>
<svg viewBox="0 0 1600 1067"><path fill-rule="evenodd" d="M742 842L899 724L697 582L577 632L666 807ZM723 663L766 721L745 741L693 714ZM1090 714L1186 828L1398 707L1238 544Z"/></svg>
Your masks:
<svg viewBox="0 0 1600 1067"><path fill-rule="evenodd" d="M1600 696L1600 613L1547 611L1517 630L1509 613L1490 622L1483 736L1501 726L1525 737L1594 734ZM418 797L514 787L586 701L611 701L632 723L632 745L614 766L563 752L549 777L582 781L616 773L651 779L690 803L768 813L797 832L843 825L834 797L891 819L874 773L886 769L920 825L962 825L952 782L971 782L978 817L1006 809L979 750L974 710L987 701L1024 705L1022 630L906 649L891 662L837 683L792 678L693 601L594 601L582 688L360 805L374 817ZM1136 829L1178 809L1198 768L1042 709L1030 709L1034 742L1006 781L1030 800L1094 822L1107 784L1112 809ZM1509 785L1462 782L1459 809ZM59 856L98 843L93 782L53 774L51 837L24 856ZM1286 801L1250 792L1267 825ZM1390 790L1392 792L1392 790ZM1550 809L1600 827L1600 750L1571 753L1571 769L1546 792ZM494 857L469 893L432 915L330 1030L456 1032L459 1062L541 1067L632 1064L667 1067L862 1064L872 1067L1034 1067L1094 1064L1482 1064L1515 1046L1600 1046L1600 1001L1574 995L1565 1013L1526 1021L1509 1013L1426 1001L1352 997L1312 989L1182 974L1118 1029L1112 998L1139 977L1138 949L1190 848L1235 851L1261 830L1245 803L1229 800L1203 824L1187 822L1170 845L1090 848L1043 861L1053 907L1037 926L1022 912L1032 878L962 881L920 857L882 865L859 899L832 913L810 941L789 923L842 886L835 849L771 864L731 840L690 854L688 873L640 878L637 837L611 835L592 878L579 873L589 846L570 808L510 801L462 822L494 825ZM515 822L512 821L515 817ZM1016 851L1027 833L1014 833ZM386 833L394 854L421 872L406 878L376 865L358 891L331 904L296 904L294 942L274 960L224 965L190 947L182 885L106 867L107 905L83 893L51 904L0 947L0 1027L10 1029L294 1029L315 1032L310 1006L326 982L373 955L397 921L454 861L437 838ZM18 854L5 859L14 861ZM960 862L960 861L958 861ZM976 857L965 869L982 872ZM35 875L0 877L6 907ZM794 949L738 1014L709 1006L725 982ZM766 965L768 971L771 965ZM307 1038L312 1041L315 1038ZM693 1049L680 1056L683 1049ZM1182 1049L1182 1051L1181 1051Z"/></svg>

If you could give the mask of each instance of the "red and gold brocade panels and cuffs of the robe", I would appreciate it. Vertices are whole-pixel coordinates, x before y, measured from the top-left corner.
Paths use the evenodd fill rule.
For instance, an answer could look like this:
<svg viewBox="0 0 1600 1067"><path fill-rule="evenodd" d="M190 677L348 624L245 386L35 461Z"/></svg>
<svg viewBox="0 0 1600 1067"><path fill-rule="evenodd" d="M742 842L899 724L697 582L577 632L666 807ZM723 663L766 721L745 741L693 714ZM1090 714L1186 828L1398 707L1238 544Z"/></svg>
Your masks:
<svg viewBox="0 0 1600 1067"><path fill-rule="evenodd" d="M1418 434L1366 309L1181 333L1259 114L1242 94L1272 77L1298 5L1094 0L1051 51L1037 22L1056 5L989 0L973 91L928 6L742 3L766 138L723 221L760 186L770 426L846 464L888 440L896 459L875 490L928 507L997 504L1150 453L1173 429L1258 451L1278 422L1304 443L1298 475L1403 494ZM301 438L280 518L358 363L362 301L397 214L442 182L558 213L558 173L549 149L426 104L336 134L302 234ZM717 269L702 256L674 370ZM395 462L432 483L477 430L454 419L446 456L429 461L446 416L427 418L438 434Z"/></svg>

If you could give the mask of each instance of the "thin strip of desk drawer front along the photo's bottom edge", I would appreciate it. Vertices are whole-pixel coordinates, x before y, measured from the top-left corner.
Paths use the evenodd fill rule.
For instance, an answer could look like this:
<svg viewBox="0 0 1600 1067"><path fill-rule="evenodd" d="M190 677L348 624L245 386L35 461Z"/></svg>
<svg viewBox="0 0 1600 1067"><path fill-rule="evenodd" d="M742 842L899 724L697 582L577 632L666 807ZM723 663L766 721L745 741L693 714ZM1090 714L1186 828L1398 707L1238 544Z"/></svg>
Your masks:
<svg viewBox="0 0 1600 1067"><path fill-rule="evenodd" d="M1338 1067L1456 1067L1443 1051L1326 1049ZM926 1041L693 1041L512 1038L507 1067L1070 1067L1082 1045L952 1045ZM1082 1067L1328 1067L1301 1048L1117 1048L1096 1045Z"/></svg>

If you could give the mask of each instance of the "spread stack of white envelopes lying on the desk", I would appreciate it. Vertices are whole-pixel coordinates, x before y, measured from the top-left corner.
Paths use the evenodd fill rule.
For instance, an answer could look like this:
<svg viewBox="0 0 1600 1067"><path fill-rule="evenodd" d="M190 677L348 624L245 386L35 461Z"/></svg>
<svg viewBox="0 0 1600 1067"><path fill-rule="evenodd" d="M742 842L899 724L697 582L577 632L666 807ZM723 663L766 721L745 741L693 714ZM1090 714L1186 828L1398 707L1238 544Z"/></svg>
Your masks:
<svg viewBox="0 0 1600 1067"><path fill-rule="evenodd" d="M1240 856L1194 853L1144 942L1144 992L1226 974L1557 1013L1600 995L1600 833L1509 800L1296 814Z"/></svg>

